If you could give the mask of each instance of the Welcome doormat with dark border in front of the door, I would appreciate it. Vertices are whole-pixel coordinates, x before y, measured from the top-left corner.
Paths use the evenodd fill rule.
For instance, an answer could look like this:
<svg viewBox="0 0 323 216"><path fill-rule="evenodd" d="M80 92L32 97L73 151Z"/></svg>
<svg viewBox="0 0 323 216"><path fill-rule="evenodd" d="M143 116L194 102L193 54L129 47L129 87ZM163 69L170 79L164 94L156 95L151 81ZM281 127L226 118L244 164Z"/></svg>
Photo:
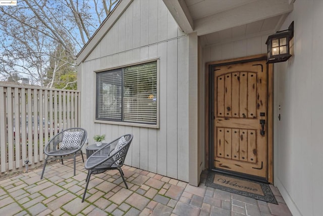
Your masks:
<svg viewBox="0 0 323 216"><path fill-rule="evenodd" d="M205 181L205 186L239 194L246 197L278 204L271 188L268 184L241 179L238 177L218 174L209 171Z"/></svg>

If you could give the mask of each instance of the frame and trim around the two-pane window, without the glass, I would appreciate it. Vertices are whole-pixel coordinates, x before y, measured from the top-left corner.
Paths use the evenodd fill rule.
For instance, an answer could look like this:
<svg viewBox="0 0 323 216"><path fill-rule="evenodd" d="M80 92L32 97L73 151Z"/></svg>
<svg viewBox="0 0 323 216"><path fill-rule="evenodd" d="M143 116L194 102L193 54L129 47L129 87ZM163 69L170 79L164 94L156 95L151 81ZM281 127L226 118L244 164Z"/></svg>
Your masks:
<svg viewBox="0 0 323 216"><path fill-rule="evenodd" d="M95 123L105 123L105 124L117 124L117 125L125 125L125 126L140 126L140 127L149 127L149 128L159 128L159 58L158 59L149 59L145 61L140 61L136 63L131 63L131 64L125 64L125 65L118 65L115 67L109 67L109 68L104 68L104 69L99 69L95 70L94 72L94 83L95 83L95 90L94 90L94 96L95 96L95 103L94 103L94 122ZM147 64L151 62L156 62L156 70L157 70L157 104L156 104L156 124L149 124L149 123L139 123L139 122L127 122L127 121L113 121L113 120L103 120L103 119L96 119L96 113L98 109L98 92L97 92L97 73L100 72L105 72L105 71L112 71L112 70L119 70L121 69L123 71L124 68L126 67L131 67L131 66L136 66L136 65L142 65L142 64ZM122 72L122 83L124 82L124 72ZM122 92L124 91L124 87L122 87ZM122 103L123 103L123 93L122 93ZM122 109L122 115L123 115L124 110Z"/></svg>

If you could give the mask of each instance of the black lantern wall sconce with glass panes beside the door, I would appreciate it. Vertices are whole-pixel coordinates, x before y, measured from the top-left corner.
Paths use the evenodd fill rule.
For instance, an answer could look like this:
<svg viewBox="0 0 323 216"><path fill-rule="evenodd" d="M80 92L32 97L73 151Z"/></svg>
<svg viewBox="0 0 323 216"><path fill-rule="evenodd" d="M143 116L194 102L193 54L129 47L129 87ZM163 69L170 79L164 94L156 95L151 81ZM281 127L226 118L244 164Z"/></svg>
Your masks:
<svg viewBox="0 0 323 216"><path fill-rule="evenodd" d="M294 36L294 21L288 29L269 35L267 45L267 64L285 62L291 55L290 40Z"/></svg>

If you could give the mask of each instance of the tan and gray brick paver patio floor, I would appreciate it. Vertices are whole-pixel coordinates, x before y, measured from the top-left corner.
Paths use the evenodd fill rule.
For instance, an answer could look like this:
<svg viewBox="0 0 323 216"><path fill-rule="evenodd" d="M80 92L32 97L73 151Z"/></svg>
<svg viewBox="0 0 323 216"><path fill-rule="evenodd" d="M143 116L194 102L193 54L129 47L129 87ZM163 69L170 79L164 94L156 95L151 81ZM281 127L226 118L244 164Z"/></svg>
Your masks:
<svg viewBox="0 0 323 216"><path fill-rule="evenodd" d="M81 202L87 171L78 157L0 181L0 215L292 215L277 188L278 205L204 186L191 186L152 172L124 166L129 186L118 170L91 177Z"/></svg>

